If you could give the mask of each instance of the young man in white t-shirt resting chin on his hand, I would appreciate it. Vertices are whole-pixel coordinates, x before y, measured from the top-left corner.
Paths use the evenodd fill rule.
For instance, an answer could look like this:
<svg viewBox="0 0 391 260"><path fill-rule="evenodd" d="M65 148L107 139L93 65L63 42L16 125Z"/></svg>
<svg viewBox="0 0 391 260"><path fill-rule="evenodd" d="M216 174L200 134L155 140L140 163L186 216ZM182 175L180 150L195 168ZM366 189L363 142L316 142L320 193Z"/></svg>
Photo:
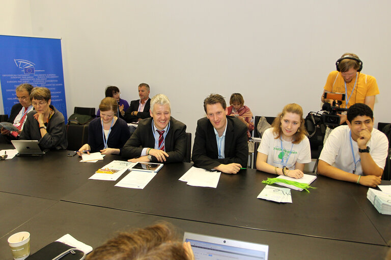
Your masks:
<svg viewBox="0 0 391 260"><path fill-rule="evenodd" d="M376 187L387 157L387 137L373 128L373 112L365 104L352 105L346 122L329 135L319 157L318 174Z"/></svg>

